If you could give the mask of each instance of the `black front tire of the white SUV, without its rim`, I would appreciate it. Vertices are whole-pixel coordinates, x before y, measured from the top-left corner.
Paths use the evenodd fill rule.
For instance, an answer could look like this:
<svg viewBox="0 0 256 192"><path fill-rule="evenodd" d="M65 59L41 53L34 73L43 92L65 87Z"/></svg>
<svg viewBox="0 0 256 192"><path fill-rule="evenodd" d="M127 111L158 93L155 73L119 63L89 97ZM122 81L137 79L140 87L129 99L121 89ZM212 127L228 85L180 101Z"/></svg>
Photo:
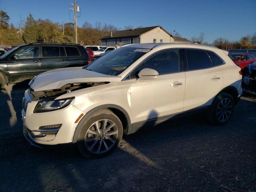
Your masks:
<svg viewBox="0 0 256 192"><path fill-rule="evenodd" d="M90 128L90 126L98 121L98 120L102 120L102 119L108 119L111 120L112 122L114 122L116 124L116 127L118 129L118 137L116 140L116 143L114 144L114 146L108 150L107 152L104 152L102 154L94 154L92 152L90 152L85 144L84 144L84 138L85 138L85 134L87 132L87 130ZM122 127L122 122L119 120L119 118L111 113L102 113L102 114L98 114L96 116L90 116L88 117L88 119L82 124L81 130L78 134L78 139L77 139L77 146L78 146L78 150L80 151L80 153L84 156L86 156L87 158L98 158L98 157L103 157L106 156L108 154L110 154L111 152L113 152L119 145L119 143L122 140L122 135L123 135L123 127Z"/></svg>

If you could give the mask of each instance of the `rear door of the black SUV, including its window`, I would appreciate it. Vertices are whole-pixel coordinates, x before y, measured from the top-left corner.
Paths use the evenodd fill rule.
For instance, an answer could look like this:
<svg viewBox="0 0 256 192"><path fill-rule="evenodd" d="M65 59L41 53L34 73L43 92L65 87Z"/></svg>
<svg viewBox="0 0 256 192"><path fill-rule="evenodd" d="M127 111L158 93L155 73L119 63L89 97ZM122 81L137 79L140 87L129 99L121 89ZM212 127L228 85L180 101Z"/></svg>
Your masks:
<svg viewBox="0 0 256 192"><path fill-rule="evenodd" d="M42 46L42 70L65 68L68 66L68 59L61 46Z"/></svg>

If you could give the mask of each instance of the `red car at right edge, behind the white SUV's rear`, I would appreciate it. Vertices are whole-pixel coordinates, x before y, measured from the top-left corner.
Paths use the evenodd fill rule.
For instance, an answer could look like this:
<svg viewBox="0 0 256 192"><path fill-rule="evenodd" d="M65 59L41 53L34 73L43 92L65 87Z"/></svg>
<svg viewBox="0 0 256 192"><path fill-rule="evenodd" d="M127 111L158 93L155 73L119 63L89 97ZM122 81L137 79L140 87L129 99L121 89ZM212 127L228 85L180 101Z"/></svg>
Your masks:
<svg viewBox="0 0 256 192"><path fill-rule="evenodd" d="M256 57L250 54L228 54L232 61L243 69L246 65L256 62Z"/></svg>

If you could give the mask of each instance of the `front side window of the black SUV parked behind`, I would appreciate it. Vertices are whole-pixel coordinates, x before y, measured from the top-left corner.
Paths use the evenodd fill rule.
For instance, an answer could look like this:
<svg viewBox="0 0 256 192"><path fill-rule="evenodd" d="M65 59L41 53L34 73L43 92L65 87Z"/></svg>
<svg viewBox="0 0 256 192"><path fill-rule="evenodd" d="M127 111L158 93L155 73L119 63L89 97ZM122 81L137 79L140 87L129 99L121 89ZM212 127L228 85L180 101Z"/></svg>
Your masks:
<svg viewBox="0 0 256 192"><path fill-rule="evenodd" d="M15 53L16 59L32 59L39 57L39 46L28 46Z"/></svg>

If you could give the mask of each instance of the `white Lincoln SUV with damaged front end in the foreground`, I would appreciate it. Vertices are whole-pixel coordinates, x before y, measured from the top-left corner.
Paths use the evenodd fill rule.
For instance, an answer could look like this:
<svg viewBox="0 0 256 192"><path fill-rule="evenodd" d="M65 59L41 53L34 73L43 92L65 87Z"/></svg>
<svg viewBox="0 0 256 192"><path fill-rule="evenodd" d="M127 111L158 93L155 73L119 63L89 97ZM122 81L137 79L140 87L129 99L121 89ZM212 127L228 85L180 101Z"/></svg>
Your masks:
<svg viewBox="0 0 256 192"><path fill-rule="evenodd" d="M228 52L198 44L131 44L83 68L44 72L23 99L24 136L36 146L76 143L87 157L112 152L122 135L206 110L224 124L242 94Z"/></svg>

